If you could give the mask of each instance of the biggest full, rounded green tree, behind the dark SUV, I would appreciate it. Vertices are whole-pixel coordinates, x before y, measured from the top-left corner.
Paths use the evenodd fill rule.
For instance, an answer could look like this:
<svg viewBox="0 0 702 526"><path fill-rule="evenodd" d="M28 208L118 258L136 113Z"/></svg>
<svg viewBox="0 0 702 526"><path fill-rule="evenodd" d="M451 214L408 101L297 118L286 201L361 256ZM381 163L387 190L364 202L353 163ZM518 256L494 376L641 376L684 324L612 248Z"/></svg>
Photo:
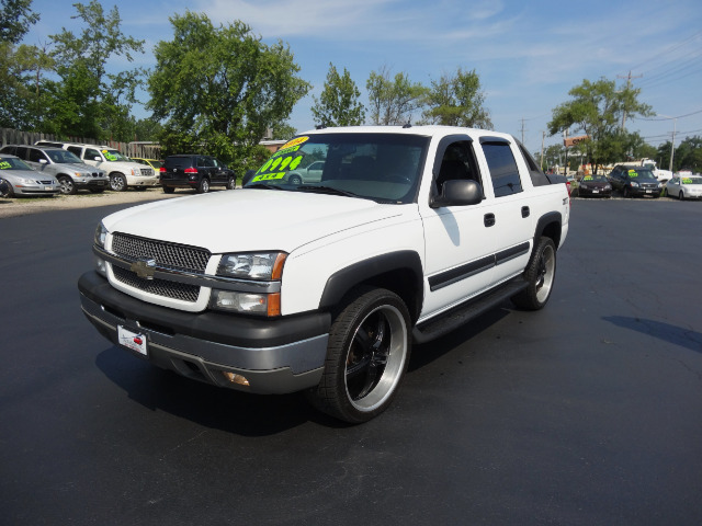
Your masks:
<svg viewBox="0 0 702 526"><path fill-rule="evenodd" d="M290 48L265 45L241 21L213 26L205 14L170 18L173 39L155 48L147 107L165 121L166 153L204 150L240 169L267 129L309 90ZM252 168L252 167L251 167Z"/></svg>

